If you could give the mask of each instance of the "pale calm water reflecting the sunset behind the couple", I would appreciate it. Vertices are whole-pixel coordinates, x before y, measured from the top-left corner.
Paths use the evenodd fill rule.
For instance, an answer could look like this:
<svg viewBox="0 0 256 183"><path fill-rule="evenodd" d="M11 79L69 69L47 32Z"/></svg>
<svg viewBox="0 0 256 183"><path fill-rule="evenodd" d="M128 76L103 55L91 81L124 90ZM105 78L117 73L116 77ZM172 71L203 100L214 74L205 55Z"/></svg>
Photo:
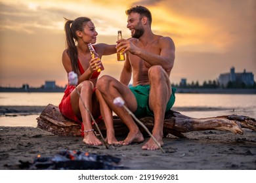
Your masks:
<svg viewBox="0 0 256 183"><path fill-rule="evenodd" d="M173 110L193 118L238 114L256 118L255 94L176 93ZM63 93L0 93L0 106L58 106ZM39 114L2 116L0 126L37 126Z"/></svg>

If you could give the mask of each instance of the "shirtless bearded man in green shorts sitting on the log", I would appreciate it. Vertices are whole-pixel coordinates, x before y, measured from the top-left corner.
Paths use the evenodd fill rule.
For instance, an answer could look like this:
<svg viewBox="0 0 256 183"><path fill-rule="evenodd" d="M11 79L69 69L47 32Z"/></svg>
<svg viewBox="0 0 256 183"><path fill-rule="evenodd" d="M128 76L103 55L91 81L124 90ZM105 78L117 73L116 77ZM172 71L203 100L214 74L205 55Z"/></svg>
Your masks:
<svg viewBox="0 0 256 183"><path fill-rule="evenodd" d="M108 106L129 128L129 134L121 144L142 142L144 137L126 110L113 104L113 100L120 96L135 116L154 116L152 135L162 146L165 112L175 102L175 88L171 88L169 80L175 59L175 45L171 38L152 33L152 16L147 8L132 7L126 14L127 28L131 30L132 38L117 41L117 51L124 48L126 54L120 82L105 75L98 80L97 87ZM131 76L133 86L128 88ZM106 129L108 143L116 143L113 125L106 126ZM152 138L142 146L144 150L158 148Z"/></svg>

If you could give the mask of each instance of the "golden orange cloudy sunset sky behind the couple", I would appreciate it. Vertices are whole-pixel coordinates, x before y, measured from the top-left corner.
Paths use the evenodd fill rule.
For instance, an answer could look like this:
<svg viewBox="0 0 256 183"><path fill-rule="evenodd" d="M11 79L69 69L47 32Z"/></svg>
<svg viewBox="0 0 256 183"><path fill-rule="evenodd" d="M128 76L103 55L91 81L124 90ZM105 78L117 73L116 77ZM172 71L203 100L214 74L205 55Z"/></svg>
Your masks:
<svg viewBox="0 0 256 183"><path fill-rule="evenodd" d="M64 87L64 18L87 16L98 32L96 43L116 44L118 30L125 39L131 36L125 10L134 5L151 11L155 34L175 42L171 83L186 78L202 84L231 67L256 78L255 0L0 0L0 86L40 87L55 80ZM116 54L103 56L102 63L101 75L119 79L123 62Z"/></svg>

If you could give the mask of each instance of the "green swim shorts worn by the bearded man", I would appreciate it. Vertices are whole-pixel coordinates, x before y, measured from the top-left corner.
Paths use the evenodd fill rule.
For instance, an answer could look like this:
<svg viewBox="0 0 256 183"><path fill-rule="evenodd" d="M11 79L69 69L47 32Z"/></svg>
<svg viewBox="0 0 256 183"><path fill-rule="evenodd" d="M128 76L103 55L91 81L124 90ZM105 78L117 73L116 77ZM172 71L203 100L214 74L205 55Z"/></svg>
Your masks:
<svg viewBox="0 0 256 183"><path fill-rule="evenodd" d="M135 116L137 117L154 116L154 113L152 110L150 110L150 106L148 103L150 85L148 84L148 85L132 86L130 87L130 90L131 92L133 92L137 100L137 110L134 112ZM173 107L173 104L175 103L175 92L176 92L176 88L172 88L172 94L167 103L165 112L167 112L167 110L170 110L170 108Z"/></svg>

